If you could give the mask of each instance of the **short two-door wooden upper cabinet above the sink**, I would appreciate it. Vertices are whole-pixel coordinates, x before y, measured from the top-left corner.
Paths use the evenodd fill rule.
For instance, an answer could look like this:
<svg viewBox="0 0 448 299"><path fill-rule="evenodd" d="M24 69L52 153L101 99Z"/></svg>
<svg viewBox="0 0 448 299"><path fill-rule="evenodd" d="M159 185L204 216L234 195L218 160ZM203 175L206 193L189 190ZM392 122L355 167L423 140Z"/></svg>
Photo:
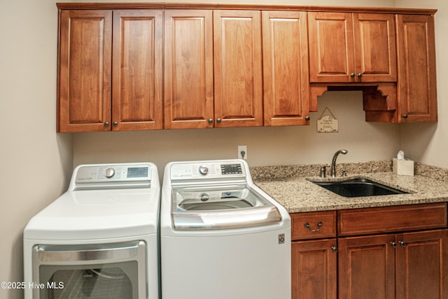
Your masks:
<svg viewBox="0 0 448 299"><path fill-rule="evenodd" d="M395 82L392 14L310 12L310 82Z"/></svg>

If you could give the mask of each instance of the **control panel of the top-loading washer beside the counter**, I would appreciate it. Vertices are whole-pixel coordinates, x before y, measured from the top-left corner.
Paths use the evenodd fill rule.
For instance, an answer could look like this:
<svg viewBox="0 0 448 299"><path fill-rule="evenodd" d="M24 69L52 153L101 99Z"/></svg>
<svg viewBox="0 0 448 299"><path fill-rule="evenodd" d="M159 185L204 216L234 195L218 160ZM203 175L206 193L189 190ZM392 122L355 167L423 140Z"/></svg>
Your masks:
<svg viewBox="0 0 448 299"><path fill-rule="evenodd" d="M171 180L202 180L208 178L246 177L239 161L174 163L170 168Z"/></svg>

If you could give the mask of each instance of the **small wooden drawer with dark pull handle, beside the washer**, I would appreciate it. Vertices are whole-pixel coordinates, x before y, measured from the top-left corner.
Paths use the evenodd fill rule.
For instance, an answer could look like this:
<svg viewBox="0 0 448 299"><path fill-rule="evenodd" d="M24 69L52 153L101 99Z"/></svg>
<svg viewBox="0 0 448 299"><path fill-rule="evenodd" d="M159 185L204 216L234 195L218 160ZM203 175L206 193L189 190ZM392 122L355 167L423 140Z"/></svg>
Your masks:
<svg viewBox="0 0 448 299"><path fill-rule="evenodd" d="M336 211L290 214L291 240L336 237Z"/></svg>

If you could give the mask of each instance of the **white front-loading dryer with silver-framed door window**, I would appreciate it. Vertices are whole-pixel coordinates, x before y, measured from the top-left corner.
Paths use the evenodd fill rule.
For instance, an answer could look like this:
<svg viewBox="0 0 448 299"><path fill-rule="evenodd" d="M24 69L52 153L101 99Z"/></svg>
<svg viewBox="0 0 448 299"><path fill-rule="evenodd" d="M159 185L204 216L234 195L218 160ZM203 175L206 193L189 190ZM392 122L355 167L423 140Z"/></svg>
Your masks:
<svg viewBox="0 0 448 299"><path fill-rule="evenodd" d="M159 207L153 163L76 167L25 228L25 298L159 298Z"/></svg>

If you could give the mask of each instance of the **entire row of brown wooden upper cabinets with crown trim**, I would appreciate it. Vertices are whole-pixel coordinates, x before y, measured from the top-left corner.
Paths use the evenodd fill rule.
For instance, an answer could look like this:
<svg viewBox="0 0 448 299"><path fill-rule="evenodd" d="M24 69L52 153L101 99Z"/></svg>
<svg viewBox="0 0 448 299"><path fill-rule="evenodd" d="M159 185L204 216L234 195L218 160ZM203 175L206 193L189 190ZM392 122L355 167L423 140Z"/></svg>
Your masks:
<svg viewBox="0 0 448 299"><path fill-rule="evenodd" d="M128 4L57 3L58 132L304 125L347 88L437 122L436 10Z"/></svg>

